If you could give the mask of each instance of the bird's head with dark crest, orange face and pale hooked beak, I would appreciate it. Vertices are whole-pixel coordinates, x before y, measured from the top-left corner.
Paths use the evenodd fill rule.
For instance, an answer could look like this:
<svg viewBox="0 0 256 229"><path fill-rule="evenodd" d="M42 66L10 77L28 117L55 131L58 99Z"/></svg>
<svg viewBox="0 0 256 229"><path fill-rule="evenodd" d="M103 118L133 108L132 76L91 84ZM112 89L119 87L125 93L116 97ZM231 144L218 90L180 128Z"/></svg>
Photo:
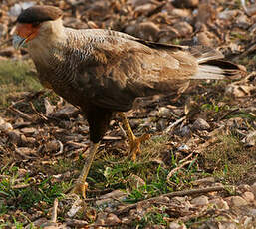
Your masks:
<svg viewBox="0 0 256 229"><path fill-rule="evenodd" d="M58 35L62 14L54 6L32 6L22 11L17 18L13 46L18 49L34 40L47 42L51 36Z"/></svg>

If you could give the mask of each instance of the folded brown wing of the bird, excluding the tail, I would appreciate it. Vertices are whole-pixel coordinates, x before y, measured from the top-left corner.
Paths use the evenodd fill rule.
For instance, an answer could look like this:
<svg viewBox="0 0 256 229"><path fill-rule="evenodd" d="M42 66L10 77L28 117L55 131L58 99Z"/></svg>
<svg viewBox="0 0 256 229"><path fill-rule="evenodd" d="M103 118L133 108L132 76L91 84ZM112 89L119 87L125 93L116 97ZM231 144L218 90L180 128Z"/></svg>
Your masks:
<svg viewBox="0 0 256 229"><path fill-rule="evenodd" d="M77 81L100 107L127 111L136 97L177 93L197 71L196 59L178 46L117 36L94 41L83 48L90 54Z"/></svg>

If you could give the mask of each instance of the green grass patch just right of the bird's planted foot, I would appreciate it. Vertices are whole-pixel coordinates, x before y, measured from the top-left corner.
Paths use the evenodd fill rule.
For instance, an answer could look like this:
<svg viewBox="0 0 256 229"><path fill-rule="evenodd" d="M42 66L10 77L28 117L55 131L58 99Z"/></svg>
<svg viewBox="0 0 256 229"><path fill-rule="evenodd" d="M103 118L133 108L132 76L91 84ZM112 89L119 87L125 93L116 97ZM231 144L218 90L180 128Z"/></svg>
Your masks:
<svg viewBox="0 0 256 229"><path fill-rule="evenodd" d="M98 190L128 189L130 192L126 199L128 203L135 203L179 188L191 187L190 182L195 177L193 174L198 171L196 164L187 165L182 171L173 174L170 182L167 182L169 172L180 166L178 155L166 149L167 142L167 136L152 137L143 145L142 155L138 156L135 162L128 156L121 160L108 153L101 155L102 159L94 161L90 169L87 178L90 187ZM168 157L168 166L160 163L161 152ZM144 184L140 183L137 186L132 179L133 175L141 179Z"/></svg>

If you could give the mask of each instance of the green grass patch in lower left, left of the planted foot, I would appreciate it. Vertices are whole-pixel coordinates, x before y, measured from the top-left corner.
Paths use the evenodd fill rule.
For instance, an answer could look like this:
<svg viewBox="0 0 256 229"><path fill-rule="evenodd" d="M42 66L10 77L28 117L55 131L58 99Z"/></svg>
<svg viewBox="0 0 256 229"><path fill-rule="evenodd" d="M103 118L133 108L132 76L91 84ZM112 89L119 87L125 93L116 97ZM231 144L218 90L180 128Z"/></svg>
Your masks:
<svg viewBox="0 0 256 229"><path fill-rule="evenodd" d="M69 187L65 182L53 182L52 178L35 182L29 173L19 177L18 168L4 172L0 180L0 216L8 211L44 209L53 203L57 197L62 197L64 190Z"/></svg>

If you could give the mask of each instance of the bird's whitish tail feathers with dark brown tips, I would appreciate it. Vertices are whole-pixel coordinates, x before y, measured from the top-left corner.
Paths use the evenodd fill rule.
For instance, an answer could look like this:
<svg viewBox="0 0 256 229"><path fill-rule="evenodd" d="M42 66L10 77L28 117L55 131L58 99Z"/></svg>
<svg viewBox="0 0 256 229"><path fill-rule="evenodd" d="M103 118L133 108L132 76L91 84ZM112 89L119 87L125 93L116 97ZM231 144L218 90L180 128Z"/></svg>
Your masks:
<svg viewBox="0 0 256 229"><path fill-rule="evenodd" d="M191 54L197 59L198 71L190 79L221 80L240 79L245 73L238 65L221 60L223 55L211 48L192 48Z"/></svg>

